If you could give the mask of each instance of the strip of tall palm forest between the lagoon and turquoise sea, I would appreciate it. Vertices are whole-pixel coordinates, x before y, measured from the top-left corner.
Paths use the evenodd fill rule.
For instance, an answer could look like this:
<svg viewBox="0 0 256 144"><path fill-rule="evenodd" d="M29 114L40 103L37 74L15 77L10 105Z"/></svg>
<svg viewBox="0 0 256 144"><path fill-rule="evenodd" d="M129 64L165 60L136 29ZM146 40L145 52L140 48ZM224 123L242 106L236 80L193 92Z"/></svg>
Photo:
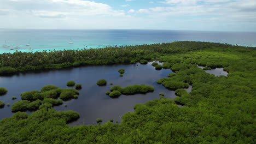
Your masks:
<svg viewBox="0 0 256 144"><path fill-rule="evenodd" d="M151 45L106 47L104 49L3 53L0 54L0 75L15 74L27 70L78 67L80 65L135 63L139 61L142 63L146 61L147 63L147 60L157 58L164 53L203 50L210 47L222 47L224 49L225 47L239 48L241 46L176 41ZM250 49L255 49L255 47Z"/></svg>

